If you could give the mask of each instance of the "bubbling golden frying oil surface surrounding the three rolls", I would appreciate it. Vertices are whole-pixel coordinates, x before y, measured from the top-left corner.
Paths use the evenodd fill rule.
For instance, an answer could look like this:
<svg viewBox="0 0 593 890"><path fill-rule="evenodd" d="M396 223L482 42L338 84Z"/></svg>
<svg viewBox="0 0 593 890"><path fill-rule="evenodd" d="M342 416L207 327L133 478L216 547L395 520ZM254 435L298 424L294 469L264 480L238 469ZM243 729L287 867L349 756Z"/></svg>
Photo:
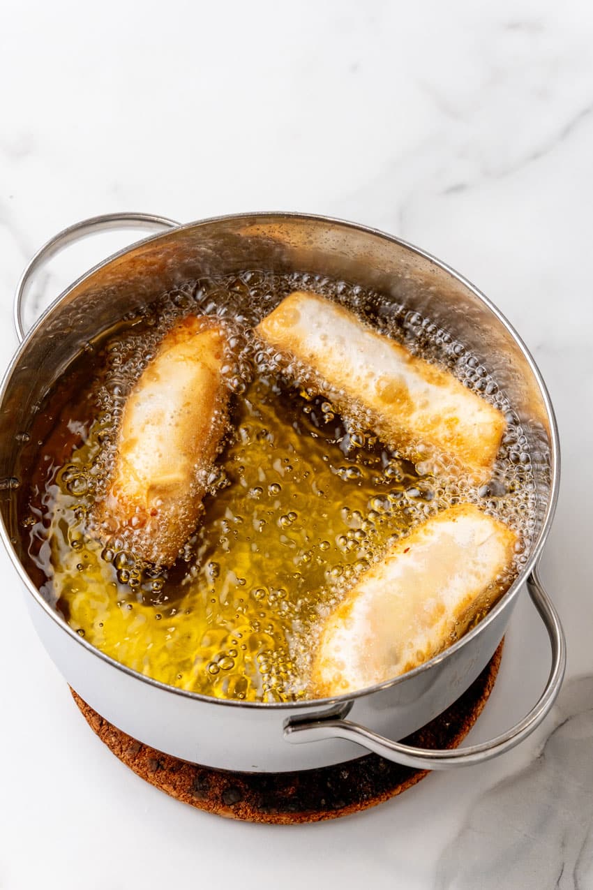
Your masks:
<svg viewBox="0 0 593 890"><path fill-rule="evenodd" d="M331 397L303 387L297 364L261 348L252 328L293 290L343 304L501 409L507 431L488 485L477 488L446 458L431 473L414 465L378 441L362 409L340 417ZM166 570L135 559L129 541L100 543L92 508L107 491L132 386L190 312L228 324L223 373L234 399L220 456L201 479L201 522ZM44 595L70 625L164 683L242 700L306 697L320 619L386 546L453 504L477 503L517 530L514 572L527 559L535 485L512 406L463 344L372 291L262 271L189 282L109 332L89 377L91 398L54 428L62 438L67 428L75 446L67 463L46 461L23 534ZM492 601L510 579L493 581Z"/></svg>

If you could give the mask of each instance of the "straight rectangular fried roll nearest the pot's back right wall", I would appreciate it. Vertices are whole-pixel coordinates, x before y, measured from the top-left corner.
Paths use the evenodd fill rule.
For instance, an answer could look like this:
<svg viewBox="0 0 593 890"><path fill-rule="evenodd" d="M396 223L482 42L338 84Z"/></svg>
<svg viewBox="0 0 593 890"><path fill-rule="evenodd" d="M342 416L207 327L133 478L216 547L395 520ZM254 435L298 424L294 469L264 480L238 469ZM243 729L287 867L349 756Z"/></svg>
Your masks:
<svg viewBox="0 0 593 890"><path fill-rule="evenodd" d="M453 457L476 484L491 477L506 427L501 411L352 312L295 291L256 333L309 370L308 382L342 413L353 404L370 412L382 441L414 457Z"/></svg>

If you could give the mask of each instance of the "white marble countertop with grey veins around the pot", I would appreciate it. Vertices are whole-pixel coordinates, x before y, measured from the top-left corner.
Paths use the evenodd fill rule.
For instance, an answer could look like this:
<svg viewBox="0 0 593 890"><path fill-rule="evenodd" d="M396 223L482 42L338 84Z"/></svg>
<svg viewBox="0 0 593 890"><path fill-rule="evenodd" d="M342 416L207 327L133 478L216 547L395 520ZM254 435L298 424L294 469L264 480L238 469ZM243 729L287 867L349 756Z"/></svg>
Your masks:
<svg viewBox="0 0 593 890"><path fill-rule="evenodd" d="M569 658L552 714L507 756L339 821L226 821L149 787L89 731L2 552L2 890L593 887L592 41L585 0L4 10L3 369L22 267L93 214L292 209L425 247L493 299L549 385L564 472L542 577ZM46 298L126 238L60 258ZM525 713L548 662L525 596L471 740Z"/></svg>

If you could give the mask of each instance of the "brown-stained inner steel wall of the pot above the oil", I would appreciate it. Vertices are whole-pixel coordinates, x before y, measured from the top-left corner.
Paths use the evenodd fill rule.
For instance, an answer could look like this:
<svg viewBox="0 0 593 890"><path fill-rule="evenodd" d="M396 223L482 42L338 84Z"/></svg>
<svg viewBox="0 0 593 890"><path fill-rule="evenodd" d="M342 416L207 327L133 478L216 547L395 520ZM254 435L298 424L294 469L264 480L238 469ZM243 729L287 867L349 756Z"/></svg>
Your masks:
<svg viewBox="0 0 593 890"><path fill-rule="evenodd" d="M192 223L140 242L76 282L28 336L0 406L0 512L17 551L18 488L11 480L18 479L27 449L22 433L57 377L127 312L188 279L246 268L309 271L373 287L475 352L508 393L530 443L537 546L551 489L550 417L529 361L501 320L450 271L379 233L315 217L254 214Z"/></svg>

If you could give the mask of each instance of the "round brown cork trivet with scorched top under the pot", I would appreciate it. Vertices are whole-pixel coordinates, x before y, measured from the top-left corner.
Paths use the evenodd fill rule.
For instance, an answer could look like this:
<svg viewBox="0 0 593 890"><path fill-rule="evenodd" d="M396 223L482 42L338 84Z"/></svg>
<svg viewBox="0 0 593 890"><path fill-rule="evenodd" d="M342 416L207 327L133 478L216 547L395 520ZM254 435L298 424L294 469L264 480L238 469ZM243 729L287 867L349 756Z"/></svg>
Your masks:
<svg viewBox="0 0 593 890"><path fill-rule="evenodd" d="M461 698L405 742L419 748L456 748L492 692L501 652L502 643ZM392 764L375 754L294 773L230 773L188 764L132 739L76 692L72 695L100 740L134 773L183 803L231 819L284 824L335 819L381 804L428 774L428 770Z"/></svg>

